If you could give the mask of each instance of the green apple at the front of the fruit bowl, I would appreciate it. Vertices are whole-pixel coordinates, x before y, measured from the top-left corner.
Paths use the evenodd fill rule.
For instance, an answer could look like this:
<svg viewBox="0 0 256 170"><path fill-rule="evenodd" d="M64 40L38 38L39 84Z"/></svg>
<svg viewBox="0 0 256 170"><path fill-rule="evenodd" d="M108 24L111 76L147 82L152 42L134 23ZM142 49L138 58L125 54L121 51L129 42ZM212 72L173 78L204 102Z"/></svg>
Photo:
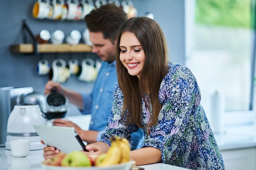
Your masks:
<svg viewBox="0 0 256 170"><path fill-rule="evenodd" d="M62 159L61 166L92 166L92 163L82 151L73 151Z"/></svg>

